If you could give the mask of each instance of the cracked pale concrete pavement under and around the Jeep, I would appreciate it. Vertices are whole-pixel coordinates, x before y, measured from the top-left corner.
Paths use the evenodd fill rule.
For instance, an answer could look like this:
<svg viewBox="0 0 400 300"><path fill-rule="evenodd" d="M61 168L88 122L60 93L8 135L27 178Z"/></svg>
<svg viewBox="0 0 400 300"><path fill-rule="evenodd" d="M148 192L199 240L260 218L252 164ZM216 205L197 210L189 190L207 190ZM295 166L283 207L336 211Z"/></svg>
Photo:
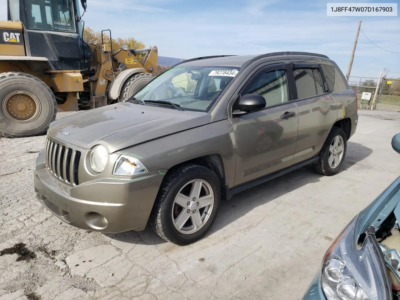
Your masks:
<svg viewBox="0 0 400 300"><path fill-rule="evenodd" d="M149 226L100 234L60 222L33 191L45 136L0 138L0 300L300 299L340 230L399 175L400 113L359 114L342 172L305 167L237 194L183 247Z"/></svg>

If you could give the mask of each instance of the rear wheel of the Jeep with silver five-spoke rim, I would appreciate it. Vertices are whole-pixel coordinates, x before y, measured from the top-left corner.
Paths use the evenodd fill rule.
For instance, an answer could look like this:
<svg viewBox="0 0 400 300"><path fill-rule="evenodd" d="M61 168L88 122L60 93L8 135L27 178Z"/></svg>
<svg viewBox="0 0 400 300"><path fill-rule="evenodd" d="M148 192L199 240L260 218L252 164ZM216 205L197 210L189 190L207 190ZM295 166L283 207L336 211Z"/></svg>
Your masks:
<svg viewBox="0 0 400 300"><path fill-rule="evenodd" d="M339 152L341 149L340 147L338 147L338 150L336 150L334 146L334 142L336 141L339 142L339 145L342 144L343 148L342 152ZM331 146L333 146L332 149L330 148ZM340 171L340 168L342 167L344 161L344 157L346 156L346 149L347 149L346 134L344 133L342 128L333 127L328 135L328 138L326 138L324 146L322 146L320 152L320 159L318 160L317 163L313 164L315 170L318 173L326 176L332 176L337 174ZM336 155L332 156L332 151L334 152L333 154L336 153ZM335 156L339 162L335 161ZM331 160L332 158L330 157L332 157L333 160Z"/></svg>

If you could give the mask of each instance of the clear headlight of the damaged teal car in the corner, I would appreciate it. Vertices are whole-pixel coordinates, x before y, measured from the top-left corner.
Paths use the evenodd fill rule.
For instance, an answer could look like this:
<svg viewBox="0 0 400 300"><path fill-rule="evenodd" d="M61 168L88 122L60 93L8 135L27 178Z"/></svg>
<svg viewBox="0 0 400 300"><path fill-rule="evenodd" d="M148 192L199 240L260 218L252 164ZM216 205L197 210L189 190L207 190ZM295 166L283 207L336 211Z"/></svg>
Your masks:
<svg viewBox="0 0 400 300"><path fill-rule="evenodd" d="M362 246L356 240L356 216L334 241L324 256L322 289L328 300L391 299L386 265L376 242L368 231Z"/></svg>

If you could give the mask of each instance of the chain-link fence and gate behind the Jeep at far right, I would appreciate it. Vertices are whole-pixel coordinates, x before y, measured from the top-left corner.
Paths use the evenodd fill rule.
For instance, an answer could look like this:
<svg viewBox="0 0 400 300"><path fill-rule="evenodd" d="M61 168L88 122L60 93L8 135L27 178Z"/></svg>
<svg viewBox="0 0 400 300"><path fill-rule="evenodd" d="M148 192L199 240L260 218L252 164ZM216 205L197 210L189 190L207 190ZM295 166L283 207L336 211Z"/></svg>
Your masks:
<svg viewBox="0 0 400 300"><path fill-rule="evenodd" d="M358 97L358 108L400 110L400 72L385 72L381 79L350 76L348 84Z"/></svg>

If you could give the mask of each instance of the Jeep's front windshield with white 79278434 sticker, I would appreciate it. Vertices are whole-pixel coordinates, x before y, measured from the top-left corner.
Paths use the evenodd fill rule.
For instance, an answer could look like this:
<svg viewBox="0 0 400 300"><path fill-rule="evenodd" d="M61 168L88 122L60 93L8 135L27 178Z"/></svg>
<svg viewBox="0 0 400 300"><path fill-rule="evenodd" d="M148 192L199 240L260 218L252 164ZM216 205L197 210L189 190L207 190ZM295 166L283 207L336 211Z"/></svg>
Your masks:
<svg viewBox="0 0 400 300"><path fill-rule="evenodd" d="M154 78L134 98L142 102L171 102L183 110L208 112L239 67L176 66ZM161 104L160 104L161 105Z"/></svg>

